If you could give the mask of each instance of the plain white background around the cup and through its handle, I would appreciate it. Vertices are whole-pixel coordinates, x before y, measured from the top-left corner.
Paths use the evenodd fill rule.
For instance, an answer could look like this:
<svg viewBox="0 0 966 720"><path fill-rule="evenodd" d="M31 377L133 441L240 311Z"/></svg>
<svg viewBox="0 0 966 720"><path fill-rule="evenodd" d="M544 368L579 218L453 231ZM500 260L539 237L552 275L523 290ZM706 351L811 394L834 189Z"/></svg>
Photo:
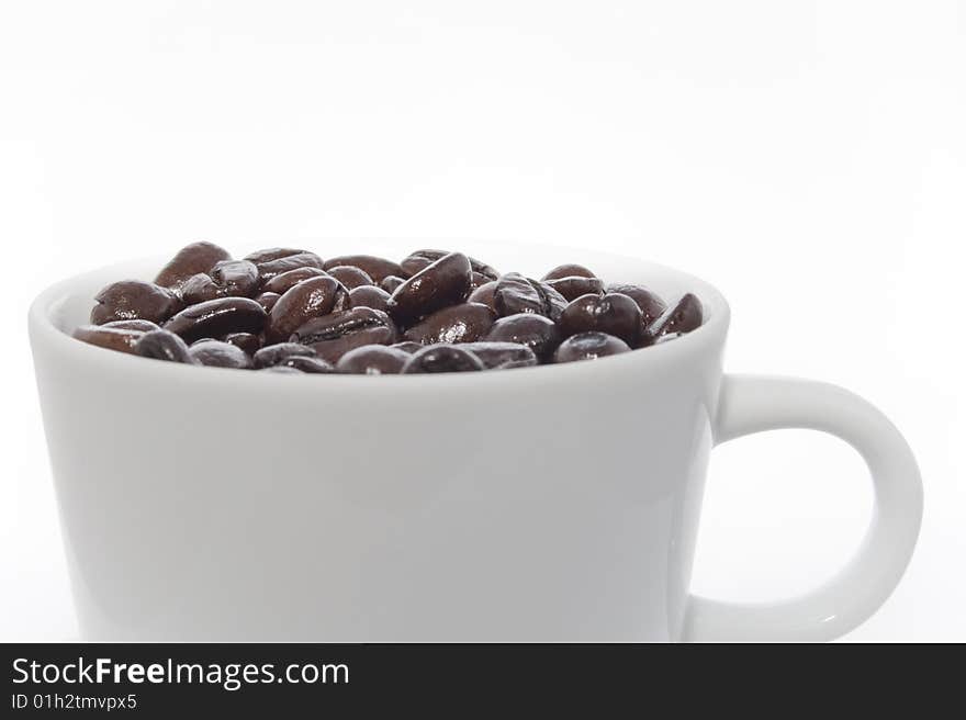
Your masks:
<svg viewBox="0 0 966 720"><path fill-rule="evenodd" d="M966 640L964 138L962 2L4 2L0 639L77 633L43 285L196 238L474 236L689 270L732 303L729 369L878 404L925 519L847 639ZM870 513L807 432L717 450L708 487L694 589L735 599L828 577Z"/></svg>

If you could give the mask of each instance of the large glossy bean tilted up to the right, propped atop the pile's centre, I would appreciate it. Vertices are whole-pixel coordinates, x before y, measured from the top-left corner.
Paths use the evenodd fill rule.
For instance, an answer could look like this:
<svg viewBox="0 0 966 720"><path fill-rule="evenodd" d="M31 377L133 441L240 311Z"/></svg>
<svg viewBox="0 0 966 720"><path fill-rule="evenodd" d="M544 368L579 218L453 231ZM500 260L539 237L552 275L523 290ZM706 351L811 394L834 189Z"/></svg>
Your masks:
<svg viewBox="0 0 966 720"><path fill-rule="evenodd" d="M389 301L389 314L401 325L425 317L470 294L470 260L451 252L427 266L396 288Z"/></svg>

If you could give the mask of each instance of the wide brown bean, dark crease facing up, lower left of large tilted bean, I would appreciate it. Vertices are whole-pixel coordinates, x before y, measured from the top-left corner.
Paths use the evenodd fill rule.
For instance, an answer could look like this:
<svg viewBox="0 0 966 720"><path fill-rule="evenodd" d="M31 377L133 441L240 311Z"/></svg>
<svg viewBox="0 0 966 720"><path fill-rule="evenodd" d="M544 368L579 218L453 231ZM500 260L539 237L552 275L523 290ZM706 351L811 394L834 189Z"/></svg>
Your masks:
<svg viewBox="0 0 966 720"><path fill-rule="evenodd" d="M356 307L308 320L290 338L312 347L322 359L336 363L349 350L363 345L392 345L396 327L385 313Z"/></svg>

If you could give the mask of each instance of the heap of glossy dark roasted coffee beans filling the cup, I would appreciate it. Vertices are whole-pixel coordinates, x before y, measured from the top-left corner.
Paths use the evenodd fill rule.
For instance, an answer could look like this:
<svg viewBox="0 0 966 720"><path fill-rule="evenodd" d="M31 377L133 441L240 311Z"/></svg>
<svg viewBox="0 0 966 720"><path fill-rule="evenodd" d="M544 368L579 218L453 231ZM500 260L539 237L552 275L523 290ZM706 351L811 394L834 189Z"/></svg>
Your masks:
<svg viewBox="0 0 966 720"><path fill-rule="evenodd" d="M75 337L188 364L287 373L396 374L526 368L629 352L689 333L701 304L608 284L580 265L540 280L461 252L323 260L269 248L234 260L182 248L154 282L96 296Z"/></svg>

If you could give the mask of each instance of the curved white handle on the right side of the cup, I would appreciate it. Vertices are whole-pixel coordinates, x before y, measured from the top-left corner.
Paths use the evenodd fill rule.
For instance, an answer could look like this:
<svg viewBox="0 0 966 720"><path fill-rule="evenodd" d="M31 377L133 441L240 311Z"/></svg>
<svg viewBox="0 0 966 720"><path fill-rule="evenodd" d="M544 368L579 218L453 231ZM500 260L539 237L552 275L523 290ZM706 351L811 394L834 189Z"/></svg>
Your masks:
<svg viewBox="0 0 966 720"><path fill-rule="evenodd" d="M716 443L780 428L842 438L863 457L875 486L873 519L862 545L831 581L800 597L734 604L690 596L687 641L822 641L875 612L909 564L922 520L922 481L906 439L877 408L827 383L726 375Z"/></svg>

